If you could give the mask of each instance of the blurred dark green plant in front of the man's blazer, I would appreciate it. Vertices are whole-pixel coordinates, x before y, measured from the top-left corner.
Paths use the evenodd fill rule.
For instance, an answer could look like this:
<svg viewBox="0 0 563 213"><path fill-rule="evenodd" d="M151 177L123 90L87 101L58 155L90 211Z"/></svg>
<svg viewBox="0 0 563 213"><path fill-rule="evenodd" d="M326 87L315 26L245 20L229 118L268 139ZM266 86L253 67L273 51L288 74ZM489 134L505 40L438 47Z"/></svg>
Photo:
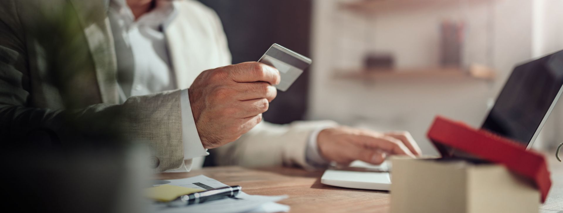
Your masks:
<svg viewBox="0 0 563 213"><path fill-rule="evenodd" d="M122 112L107 108L104 113L94 113L97 108L91 107L101 103L96 97L100 96L96 95L99 92L96 84L104 79L96 79L93 58L103 53L90 50L84 30L90 26L102 29L98 24L106 19L105 8L93 1L73 3L74 6L70 2L56 7L47 2L35 5L41 19L30 26L26 37L33 41L34 48L42 56L40 65L47 70L40 73L42 81L56 91L46 99L61 99L60 107L55 109L64 110L57 115L61 117L59 126L62 130L59 132L64 132L59 134L60 140L115 144L114 141L124 141L120 126L117 126ZM81 23L81 17L84 23ZM102 72L114 74L111 70Z"/></svg>

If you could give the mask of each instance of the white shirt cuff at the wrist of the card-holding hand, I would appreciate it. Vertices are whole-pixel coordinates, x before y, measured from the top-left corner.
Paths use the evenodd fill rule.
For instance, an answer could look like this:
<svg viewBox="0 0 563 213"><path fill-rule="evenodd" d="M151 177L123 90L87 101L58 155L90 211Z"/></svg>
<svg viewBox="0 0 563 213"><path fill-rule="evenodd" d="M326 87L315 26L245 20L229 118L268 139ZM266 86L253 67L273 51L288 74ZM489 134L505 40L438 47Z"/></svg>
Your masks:
<svg viewBox="0 0 563 213"><path fill-rule="evenodd" d="M182 141L184 143L184 159L208 156L209 152L203 148L199 139L198 129L195 127L193 113L191 112L190 96L187 89L180 95L180 108L182 110Z"/></svg>

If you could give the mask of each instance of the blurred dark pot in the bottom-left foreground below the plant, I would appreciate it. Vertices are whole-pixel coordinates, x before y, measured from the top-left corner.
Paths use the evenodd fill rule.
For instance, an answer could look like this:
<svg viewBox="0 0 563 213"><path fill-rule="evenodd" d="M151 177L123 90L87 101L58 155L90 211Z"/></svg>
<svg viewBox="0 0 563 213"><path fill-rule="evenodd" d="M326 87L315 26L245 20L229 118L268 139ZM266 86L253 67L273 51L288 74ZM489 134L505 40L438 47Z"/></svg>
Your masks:
<svg viewBox="0 0 563 213"><path fill-rule="evenodd" d="M141 146L138 146L141 147ZM148 212L148 150L1 149L3 208L17 212Z"/></svg>

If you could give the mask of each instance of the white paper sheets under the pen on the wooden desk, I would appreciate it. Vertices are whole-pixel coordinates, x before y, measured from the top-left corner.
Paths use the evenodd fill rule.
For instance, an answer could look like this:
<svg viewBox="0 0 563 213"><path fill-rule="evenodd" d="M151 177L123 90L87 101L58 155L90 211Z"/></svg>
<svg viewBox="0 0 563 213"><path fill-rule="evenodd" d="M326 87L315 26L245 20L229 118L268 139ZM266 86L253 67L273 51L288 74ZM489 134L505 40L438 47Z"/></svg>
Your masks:
<svg viewBox="0 0 563 213"><path fill-rule="evenodd" d="M227 185L204 175L189 177L185 179L166 180L163 183L179 187L194 189L214 189L226 187ZM162 185L162 184L161 184ZM244 188L243 188L244 190ZM167 207L155 203L155 211L162 213L175 212L201 212L201 213L229 213L229 212L287 212L289 206L275 203L287 198L287 196L253 196L241 192L237 199L220 199L185 207Z"/></svg>

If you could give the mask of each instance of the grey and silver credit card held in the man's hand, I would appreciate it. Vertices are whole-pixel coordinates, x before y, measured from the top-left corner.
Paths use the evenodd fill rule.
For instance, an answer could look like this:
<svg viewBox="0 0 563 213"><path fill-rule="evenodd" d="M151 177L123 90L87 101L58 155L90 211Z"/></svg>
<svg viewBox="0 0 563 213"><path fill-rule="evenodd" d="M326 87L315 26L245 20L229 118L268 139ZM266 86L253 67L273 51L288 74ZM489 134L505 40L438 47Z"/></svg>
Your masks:
<svg viewBox="0 0 563 213"><path fill-rule="evenodd" d="M258 62L274 66L280 71L282 79L279 85L275 85L280 91L286 91L301 76L303 70L307 69L312 63L308 57L293 52L277 43L272 45Z"/></svg>

